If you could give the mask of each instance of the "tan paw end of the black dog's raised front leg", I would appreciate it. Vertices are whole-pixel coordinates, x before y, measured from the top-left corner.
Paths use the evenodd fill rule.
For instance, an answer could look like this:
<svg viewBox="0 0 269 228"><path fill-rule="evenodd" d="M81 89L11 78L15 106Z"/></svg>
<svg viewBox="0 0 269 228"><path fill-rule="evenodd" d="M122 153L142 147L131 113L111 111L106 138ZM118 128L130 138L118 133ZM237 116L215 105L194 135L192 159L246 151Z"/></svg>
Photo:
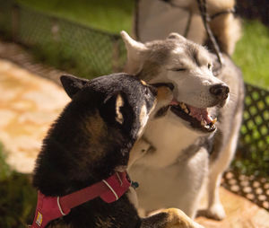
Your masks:
<svg viewBox="0 0 269 228"><path fill-rule="evenodd" d="M204 226L195 223L195 221L179 209L169 208L161 212L169 215L165 226L166 228L204 228Z"/></svg>

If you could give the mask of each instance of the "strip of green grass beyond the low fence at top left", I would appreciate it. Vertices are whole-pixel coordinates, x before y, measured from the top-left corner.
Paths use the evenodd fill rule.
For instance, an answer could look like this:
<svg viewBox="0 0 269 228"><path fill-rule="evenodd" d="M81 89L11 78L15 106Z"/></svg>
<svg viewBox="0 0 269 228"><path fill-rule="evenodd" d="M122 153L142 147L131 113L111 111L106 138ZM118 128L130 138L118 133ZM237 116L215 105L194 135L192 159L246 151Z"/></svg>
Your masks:
<svg viewBox="0 0 269 228"><path fill-rule="evenodd" d="M131 32L134 0L18 0L40 12L90 25L103 31Z"/></svg>

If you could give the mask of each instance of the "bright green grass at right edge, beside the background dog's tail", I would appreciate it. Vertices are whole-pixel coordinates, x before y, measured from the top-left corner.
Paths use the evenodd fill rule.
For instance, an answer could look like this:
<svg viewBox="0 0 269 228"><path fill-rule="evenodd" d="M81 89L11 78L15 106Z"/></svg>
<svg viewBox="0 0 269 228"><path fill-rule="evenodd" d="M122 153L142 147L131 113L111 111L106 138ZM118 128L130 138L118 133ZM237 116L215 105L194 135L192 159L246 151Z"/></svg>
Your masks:
<svg viewBox="0 0 269 228"><path fill-rule="evenodd" d="M261 22L245 21L243 37L233 55L247 83L269 89L269 29Z"/></svg>

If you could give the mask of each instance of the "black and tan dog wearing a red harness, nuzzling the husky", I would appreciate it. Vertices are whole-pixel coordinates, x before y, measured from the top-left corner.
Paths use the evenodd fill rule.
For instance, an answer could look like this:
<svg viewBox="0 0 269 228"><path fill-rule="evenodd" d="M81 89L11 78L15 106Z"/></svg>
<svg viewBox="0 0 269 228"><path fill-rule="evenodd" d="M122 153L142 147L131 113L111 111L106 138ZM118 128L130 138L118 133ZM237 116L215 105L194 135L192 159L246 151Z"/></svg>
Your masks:
<svg viewBox="0 0 269 228"><path fill-rule="evenodd" d="M169 87L157 90L126 74L92 81L62 76L61 82L72 101L49 130L36 162L39 202L32 227L201 228L178 209L140 218L126 174L135 158L130 150L156 102L171 101Z"/></svg>

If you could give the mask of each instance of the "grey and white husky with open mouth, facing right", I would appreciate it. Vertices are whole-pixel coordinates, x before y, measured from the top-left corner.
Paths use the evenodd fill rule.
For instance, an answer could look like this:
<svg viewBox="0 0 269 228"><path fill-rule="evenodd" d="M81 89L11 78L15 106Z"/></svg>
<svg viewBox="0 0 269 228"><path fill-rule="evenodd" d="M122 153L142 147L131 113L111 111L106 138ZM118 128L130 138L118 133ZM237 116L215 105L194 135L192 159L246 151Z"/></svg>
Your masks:
<svg viewBox="0 0 269 228"><path fill-rule="evenodd" d="M175 86L172 103L148 123L141 138L147 143L145 153L130 169L141 184L140 211L173 206L194 218L208 179L206 215L222 219L218 188L236 150L243 111L239 68L224 56L221 73L215 76L216 57L178 33L144 44L125 31L121 35L129 74Z"/></svg>

